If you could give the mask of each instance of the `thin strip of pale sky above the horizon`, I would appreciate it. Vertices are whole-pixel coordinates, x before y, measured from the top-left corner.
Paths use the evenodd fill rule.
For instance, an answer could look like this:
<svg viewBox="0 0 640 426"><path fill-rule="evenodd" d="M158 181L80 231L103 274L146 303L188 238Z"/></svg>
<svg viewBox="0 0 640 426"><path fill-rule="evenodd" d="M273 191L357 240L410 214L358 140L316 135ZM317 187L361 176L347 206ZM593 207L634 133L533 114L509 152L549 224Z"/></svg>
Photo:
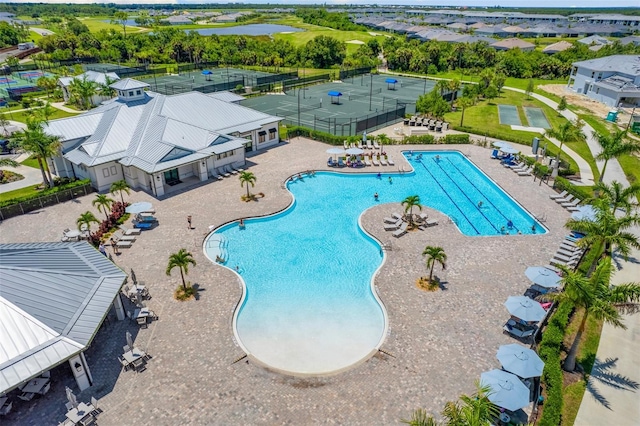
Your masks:
<svg viewBox="0 0 640 426"><path fill-rule="evenodd" d="M21 3L24 0L0 0L0 3L7 2ZM116 3L116 4L205 4L205 3L252 3L252 4L393 4L393 5L416 5L416 6L440 6L443 4L450 6L503 6L503 7L636 7L640 8L640 0L610 0L603 2L602 0L447 0L446 3L432 0L247 0L247 1L224 1L224 0L30 0L38 3ZM534 3L534 4L532 4Z"/></svg>

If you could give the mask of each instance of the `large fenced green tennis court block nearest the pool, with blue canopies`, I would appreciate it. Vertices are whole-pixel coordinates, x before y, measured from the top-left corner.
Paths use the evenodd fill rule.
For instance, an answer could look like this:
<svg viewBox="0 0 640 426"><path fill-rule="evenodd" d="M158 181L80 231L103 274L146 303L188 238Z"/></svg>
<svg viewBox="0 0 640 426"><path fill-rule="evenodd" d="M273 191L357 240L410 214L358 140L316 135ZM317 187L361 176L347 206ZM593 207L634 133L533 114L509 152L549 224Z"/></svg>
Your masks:
<svg viewBox="0 0 640 426"><path fill-rule="evenodd" d="M355 135L388 125L415 112L418 96L435 82L398 77L390 85L385 75L361 75L343 82L287 89L245 99L243 106L285 118L284 124L308 127L334 135ZM331 95L330 95L331 94Z"/></svg>

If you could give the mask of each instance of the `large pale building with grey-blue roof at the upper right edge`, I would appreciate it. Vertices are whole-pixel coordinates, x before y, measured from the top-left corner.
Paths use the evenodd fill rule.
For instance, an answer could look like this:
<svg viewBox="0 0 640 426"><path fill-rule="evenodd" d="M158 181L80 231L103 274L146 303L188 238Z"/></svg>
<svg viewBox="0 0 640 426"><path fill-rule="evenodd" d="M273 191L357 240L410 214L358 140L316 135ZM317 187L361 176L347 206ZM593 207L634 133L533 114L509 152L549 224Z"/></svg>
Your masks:
<svg viewBox="0 0 640 426"><path fill-rule="evenodd" d="M640 55L574 62L567 86L610 107L640 106Z"/></svg>

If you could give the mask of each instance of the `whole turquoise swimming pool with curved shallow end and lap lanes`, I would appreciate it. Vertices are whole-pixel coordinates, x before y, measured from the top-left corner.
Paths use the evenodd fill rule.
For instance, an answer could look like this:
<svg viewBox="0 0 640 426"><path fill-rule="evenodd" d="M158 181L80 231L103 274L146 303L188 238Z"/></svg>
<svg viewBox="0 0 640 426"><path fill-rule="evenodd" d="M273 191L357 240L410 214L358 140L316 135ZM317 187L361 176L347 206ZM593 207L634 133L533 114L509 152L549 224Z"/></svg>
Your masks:
<svg viewBox="0 0 640 426"><path fill-rule="evenodd" d="M397 203L401 212L399 203L417 194L469 236L501 235L508 221L511 233L546 232L463 155L405 156L414 172L391 182L388 174L333 172L290 182L295 202L287 210L245 220L244 229L224 225L207 238L209 259L220 255L244 281L234 332L248 354L276 370L319 375L375 353L387 320L371 286L384 254L358 218L378 203Z"/></svg>

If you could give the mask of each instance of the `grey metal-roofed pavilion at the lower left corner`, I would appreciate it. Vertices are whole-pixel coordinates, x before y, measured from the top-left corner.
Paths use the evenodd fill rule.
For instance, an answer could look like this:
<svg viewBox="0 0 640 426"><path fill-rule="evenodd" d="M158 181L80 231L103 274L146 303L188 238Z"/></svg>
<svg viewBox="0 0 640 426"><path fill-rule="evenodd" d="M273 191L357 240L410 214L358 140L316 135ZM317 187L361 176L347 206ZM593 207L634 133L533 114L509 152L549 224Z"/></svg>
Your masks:
<svg viewBox="0 0 640 426"><path fill-rule="evenodd" d="M0 244L0 394L69 362L92 384L83 352L127 275L87 242Z"/></svg>

